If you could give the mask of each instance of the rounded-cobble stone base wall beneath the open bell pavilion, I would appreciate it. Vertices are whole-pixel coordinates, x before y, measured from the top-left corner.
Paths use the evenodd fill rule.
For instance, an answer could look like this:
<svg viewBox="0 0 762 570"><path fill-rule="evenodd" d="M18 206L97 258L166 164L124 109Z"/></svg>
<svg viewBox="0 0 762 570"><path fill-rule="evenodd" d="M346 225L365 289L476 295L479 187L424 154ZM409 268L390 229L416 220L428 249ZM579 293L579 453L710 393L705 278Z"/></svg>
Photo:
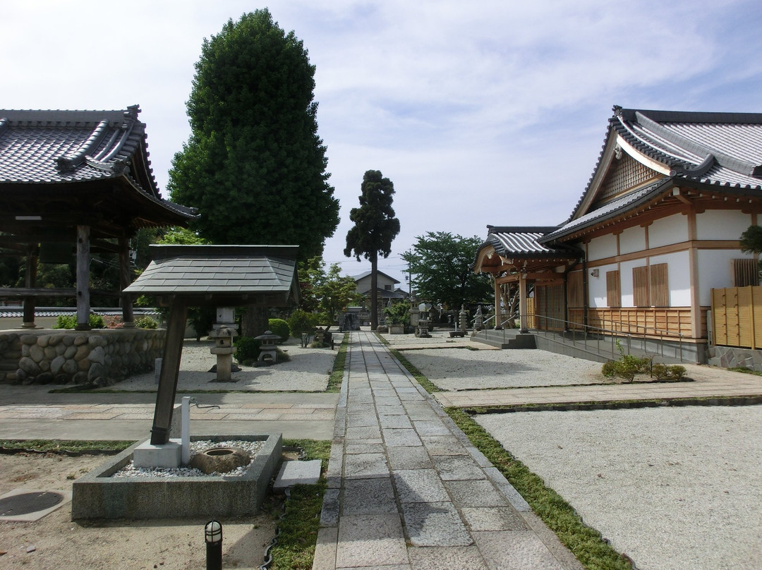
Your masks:
<svg viewBox="0 0 762 570"><path fill-rule="evenodd" d="M0 380L4 374L8 383L107 386L153 370L165 339L162 328L0 331Z"/></svg>

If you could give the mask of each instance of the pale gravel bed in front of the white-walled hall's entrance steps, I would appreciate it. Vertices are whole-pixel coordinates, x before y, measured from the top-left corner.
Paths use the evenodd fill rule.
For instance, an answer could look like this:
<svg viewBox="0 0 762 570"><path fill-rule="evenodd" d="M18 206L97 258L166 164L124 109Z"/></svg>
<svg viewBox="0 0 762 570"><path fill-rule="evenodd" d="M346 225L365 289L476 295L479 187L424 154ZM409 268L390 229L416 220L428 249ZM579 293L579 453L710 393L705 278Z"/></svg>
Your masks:
<svg viewBox="0 0 762 570"><path fill-rule="evenodd" d="M431 382L450 391L608 382L600 363L548 351L437 348L405 351L404 356Z"/></svg>

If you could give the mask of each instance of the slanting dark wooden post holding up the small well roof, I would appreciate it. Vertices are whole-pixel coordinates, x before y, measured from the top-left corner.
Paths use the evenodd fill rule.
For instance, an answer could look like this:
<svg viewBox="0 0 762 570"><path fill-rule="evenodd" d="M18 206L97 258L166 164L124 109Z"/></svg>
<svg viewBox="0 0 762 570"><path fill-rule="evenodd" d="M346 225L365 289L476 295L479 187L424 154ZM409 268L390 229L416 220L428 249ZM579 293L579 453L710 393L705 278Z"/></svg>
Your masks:
<svg viewBox="0 0 762 570"><path fill-rule="evenodd" d="M162 371L158 376L156 407L153 412L152 445L164 445L169 442L169 428L172 423L174 395L178 389L178 374L180 373L180 358L183 352L187 310L185 299L176 297L171 302L167 322L167 340L162 357Z"/></svg>

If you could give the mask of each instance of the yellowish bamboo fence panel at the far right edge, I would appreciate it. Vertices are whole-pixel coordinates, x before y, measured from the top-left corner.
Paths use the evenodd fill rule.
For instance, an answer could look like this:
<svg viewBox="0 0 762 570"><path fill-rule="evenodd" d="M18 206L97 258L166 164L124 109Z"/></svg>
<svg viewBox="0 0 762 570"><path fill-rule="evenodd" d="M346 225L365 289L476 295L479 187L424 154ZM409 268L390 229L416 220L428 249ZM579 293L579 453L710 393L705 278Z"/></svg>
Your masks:
<svg viewBox="0 0 762 570"><path fill-rule="evenodd" d="M731 347L762 347L762 287L712 289L712 341Z"/></svg>

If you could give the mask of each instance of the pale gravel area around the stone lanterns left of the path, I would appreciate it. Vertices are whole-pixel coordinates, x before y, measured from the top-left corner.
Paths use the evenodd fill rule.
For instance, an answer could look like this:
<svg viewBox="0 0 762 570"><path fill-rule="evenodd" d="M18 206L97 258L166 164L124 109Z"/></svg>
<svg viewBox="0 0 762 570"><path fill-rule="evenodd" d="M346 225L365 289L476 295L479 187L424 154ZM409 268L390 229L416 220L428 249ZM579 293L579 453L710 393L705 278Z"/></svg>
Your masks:
<svg viewBox="0 0 762 570"><path fill-rule="evenodd" d="M336 339L336 346L341 344L341 336ZM232 373L233 382L214 382L215 373L209 370L217 362L217 357L210 353L211 341L185 341L180 360L178 389L184 390L244 390L244 391L289 391L304 390L319 392L328 386L328 376L333 369L336 351L330 348L303 348L294 338L289 339L280 348L290 356L290 361L279 362L271 366L241 367L240 372ZM120 390L155 390L155 373L130 376L114 386L104 389Z"/></svg>

